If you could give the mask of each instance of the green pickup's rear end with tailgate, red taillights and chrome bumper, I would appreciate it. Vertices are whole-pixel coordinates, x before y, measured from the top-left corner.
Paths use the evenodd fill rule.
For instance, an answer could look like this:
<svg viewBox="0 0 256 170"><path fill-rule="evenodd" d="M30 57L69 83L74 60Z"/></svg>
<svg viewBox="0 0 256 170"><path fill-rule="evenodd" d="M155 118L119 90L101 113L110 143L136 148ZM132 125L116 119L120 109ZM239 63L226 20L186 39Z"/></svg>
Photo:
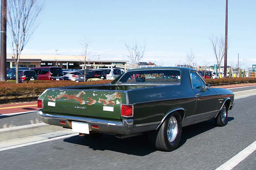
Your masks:
<svg viewBox="0 0 256 170"><path fill-rule="evenodd" d="M47 124L78 133L130 134L133 106L122 103L126 103L123 91L55 88L38 98L38 114Z"/></svg>

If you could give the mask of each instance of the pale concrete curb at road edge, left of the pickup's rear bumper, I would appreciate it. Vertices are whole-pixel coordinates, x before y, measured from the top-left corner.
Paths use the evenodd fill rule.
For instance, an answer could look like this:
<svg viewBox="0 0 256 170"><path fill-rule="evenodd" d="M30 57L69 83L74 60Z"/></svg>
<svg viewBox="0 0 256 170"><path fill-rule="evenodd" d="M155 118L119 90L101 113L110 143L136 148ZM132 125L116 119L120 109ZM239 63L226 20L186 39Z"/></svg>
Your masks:
<svg viewBox="0 0 256 170"><path fill-rule="evenodd" d="M54 126L45 123L29 124L24 126L17 126L11 128L0 129L0 141L23 138L33 136L36 134L50 133L63 130L61 126Z"/></svg>

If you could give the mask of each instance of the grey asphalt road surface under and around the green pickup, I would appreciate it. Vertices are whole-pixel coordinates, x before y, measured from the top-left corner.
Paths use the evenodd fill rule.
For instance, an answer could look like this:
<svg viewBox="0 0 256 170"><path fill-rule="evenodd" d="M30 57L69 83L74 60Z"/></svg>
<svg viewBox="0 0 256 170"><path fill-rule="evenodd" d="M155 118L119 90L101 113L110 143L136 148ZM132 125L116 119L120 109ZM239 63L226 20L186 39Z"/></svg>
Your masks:
<svg viewBox="0 0 256 170"><path fill-rule="evenodd" d="M172 152L150 148L147 136L116 140L73 136L0 151L3 170L214 170L256 141L256 95L235 100L228 124L213 121L182 129L178 149ZM256 151L234 170L255 170Z"/></svg>

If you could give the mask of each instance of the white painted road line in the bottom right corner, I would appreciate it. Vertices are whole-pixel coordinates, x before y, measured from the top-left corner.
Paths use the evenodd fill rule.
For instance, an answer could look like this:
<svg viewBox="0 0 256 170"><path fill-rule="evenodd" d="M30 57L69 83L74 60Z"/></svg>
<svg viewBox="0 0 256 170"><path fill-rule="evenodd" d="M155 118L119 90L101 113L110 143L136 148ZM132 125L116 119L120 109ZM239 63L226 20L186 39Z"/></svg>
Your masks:
<svg viewBox="0 0 256 170"><path fill-rule="evenodd" d="M253 153L256 150L256 141L251 145L247 146L244 150L240 151L237 155L233 158L222 164L216 170L231 170L235 166L237 166L242 160L244 160L247 156Z"/></svg>

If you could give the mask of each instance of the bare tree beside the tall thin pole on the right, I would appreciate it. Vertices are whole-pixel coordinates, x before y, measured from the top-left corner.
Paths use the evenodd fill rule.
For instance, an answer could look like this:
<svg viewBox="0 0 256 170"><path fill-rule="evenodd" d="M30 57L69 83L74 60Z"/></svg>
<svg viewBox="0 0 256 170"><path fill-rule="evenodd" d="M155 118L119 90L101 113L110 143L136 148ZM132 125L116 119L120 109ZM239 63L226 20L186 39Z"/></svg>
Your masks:
<svg viewBox="0 0 256 170"><path fill-rule="evenodd" d="M217 61L217 65L219 68L219 75L220 75L220 67L221 67L221 63L223 61L224 58L224 54L225 54L225 42L224 42L224 37L220 36L214 36L211 35L211 37L209 37L210 41L211 41L211 45L213 47L213 53L214 56L216 57L216 61Z"/></svg>

